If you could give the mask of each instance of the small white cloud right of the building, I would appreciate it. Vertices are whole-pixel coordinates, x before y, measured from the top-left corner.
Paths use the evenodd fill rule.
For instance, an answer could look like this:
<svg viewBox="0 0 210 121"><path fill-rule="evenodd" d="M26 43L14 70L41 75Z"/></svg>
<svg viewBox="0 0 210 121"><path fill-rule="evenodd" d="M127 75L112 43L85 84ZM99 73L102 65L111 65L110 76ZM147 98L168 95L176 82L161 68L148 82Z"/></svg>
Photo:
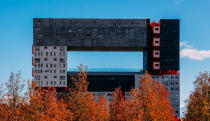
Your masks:
<svg viewBox="0 0 210 121"><path fill-rule="evenodd" d="M197 50L195 48L184 48L180 52L181 57L192 60L204 60L210 58L210 50Z"/></svg>

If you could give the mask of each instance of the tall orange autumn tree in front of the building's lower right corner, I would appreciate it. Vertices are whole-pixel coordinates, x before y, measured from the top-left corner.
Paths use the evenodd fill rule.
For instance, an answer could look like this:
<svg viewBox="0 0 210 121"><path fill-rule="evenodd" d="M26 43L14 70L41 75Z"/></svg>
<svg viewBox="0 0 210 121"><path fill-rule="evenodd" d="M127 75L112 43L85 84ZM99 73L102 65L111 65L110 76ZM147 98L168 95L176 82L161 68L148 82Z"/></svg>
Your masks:
<svg viewBox="0 0 210 121"><path fill-rule="evenodd" d="M160 82L152 81L147 72L141 77L139 98L142 101L143 120L174 120L174 109L171 106L169 92Z"/></svg>

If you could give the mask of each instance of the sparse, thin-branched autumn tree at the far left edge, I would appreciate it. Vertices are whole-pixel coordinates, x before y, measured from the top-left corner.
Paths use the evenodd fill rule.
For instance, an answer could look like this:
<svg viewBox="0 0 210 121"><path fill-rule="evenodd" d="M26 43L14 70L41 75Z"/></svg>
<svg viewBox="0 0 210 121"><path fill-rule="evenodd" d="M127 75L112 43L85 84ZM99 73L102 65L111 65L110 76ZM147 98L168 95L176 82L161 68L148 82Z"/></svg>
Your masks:
<svg viewBox="0 0 210 121"><path fill-rule="evenodd" d="M1 98L1 114L4 120L18 120L19 105L23 100L24 80L21 72L11 72L9 80L4 85L4 93ZM5 115L6 114L6 115Z"/></svg>

